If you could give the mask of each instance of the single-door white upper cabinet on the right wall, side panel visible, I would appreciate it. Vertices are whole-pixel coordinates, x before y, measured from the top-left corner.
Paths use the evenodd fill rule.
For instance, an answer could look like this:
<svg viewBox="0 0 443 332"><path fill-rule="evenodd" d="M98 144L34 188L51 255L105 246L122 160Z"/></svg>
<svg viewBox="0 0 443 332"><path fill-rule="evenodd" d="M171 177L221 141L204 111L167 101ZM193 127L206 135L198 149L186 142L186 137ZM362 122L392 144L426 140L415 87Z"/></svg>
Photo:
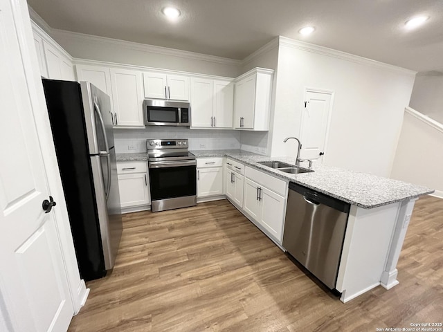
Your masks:
<svg viewBox="0 0 443 332"><path fill-rule="evenodd" d="M235 129L269 130L273 71L254 68L235 80Z"/></svg>

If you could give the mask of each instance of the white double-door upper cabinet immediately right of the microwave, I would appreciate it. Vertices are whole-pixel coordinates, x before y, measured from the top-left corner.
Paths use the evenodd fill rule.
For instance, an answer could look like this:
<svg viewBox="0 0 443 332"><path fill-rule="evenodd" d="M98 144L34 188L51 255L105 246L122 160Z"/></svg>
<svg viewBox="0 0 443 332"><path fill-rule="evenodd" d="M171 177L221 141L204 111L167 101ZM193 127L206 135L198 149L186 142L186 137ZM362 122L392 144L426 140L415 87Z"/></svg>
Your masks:
<svg viewBox="0 0 443 332"><path fill-rule="evenodd" d="M191 127L233 127L233 82L191 78Z"/></svg>

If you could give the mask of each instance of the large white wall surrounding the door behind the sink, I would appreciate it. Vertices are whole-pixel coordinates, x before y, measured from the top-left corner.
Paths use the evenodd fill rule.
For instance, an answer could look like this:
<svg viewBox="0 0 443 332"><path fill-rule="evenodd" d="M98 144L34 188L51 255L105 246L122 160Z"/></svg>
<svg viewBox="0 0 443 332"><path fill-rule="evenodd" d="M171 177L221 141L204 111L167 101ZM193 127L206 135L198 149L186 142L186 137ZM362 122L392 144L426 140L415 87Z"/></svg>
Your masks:
<svg viewBox="0 0 443 332"><path fill-rule="evenodd" d="M415 73L280 38L271 156L295 156L305 87L334 91L325 164L389 176Z"/></svg>

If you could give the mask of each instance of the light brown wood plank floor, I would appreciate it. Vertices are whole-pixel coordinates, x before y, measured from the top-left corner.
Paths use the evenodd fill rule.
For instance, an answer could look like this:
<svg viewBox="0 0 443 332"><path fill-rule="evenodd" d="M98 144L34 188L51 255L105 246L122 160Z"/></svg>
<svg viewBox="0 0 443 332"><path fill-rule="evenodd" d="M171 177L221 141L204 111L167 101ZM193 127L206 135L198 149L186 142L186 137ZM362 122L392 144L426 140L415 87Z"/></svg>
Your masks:
<svg viewBox="0 0 443 332"><path fill-rule="evenodd" d="M377 243L374 243L377 246ZM347 304L228 201L124 216L111 275L88 282L69 331L376 331L443 321L443 200L417 201L400 284Z"/></svg>

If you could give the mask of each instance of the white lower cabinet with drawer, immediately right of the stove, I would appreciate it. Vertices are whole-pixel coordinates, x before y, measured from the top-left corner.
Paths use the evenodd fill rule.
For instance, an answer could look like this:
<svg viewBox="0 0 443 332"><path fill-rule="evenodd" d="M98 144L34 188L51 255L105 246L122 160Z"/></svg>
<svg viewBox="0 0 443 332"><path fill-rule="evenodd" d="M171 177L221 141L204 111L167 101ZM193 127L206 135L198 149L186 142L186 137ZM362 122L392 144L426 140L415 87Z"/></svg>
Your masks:
<svg viewBox="0 0 443 332"><path fill-rule="evenodd" d="M223 158L197 158L197 198L223 194Z"/></svg>

